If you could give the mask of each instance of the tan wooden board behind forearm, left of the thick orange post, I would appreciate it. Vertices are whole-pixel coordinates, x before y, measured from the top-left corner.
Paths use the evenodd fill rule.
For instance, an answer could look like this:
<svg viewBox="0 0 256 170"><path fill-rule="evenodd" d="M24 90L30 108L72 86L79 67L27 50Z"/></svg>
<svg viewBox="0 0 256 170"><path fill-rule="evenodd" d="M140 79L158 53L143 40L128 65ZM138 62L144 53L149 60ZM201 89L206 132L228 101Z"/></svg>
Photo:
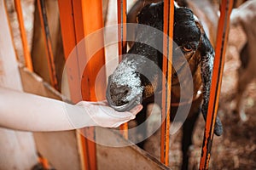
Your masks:
<svg viewBox="0 0 256 170"><path fill-rule="evenodd" d="M24 91L51 99L61 99L61 94L35 73L20 68L20 76ZM81 169L76 131L34 133L34 139L38 152L56 169Z"/></svg>

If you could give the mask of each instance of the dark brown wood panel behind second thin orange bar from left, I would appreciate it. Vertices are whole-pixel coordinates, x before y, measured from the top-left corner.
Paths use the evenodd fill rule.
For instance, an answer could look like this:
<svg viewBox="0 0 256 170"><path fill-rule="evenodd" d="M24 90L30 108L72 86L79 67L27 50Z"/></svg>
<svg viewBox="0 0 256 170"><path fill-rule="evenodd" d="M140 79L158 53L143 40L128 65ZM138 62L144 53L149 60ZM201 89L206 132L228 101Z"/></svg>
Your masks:
<svg viewBox="0 0 256 170"><path fill-rule="evenodd" d="M34 13L34 29L32 38L32 64L34 72L40 77L44 78L45 82L50 83L49 77L49 65L47 63L44 36L41 29L40 18L38 14L38 1L35 1L35 13ZM46 0L46 14L48 16L49 34L51 38L51 48L55 60L55 71L58 82L58 88L61 89L61 76L63 71L63 65L65 63L63 46L60 31L60 17L58 2L56 0Z"/></svg>

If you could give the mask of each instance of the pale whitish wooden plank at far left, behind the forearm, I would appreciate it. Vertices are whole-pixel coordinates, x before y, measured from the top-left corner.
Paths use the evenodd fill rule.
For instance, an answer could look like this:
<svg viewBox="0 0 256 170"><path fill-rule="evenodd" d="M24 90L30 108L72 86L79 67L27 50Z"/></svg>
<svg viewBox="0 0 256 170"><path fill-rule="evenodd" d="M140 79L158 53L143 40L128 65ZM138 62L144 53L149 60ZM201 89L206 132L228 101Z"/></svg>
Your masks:
<svg viewBox="0 0 256 170"><path fill-rule="evenodd" d="M3 2L0 1L0 85L22 91L15 48ZM0 128L0 169L31 169L36 163L37 154L32 133Z"/></svg>

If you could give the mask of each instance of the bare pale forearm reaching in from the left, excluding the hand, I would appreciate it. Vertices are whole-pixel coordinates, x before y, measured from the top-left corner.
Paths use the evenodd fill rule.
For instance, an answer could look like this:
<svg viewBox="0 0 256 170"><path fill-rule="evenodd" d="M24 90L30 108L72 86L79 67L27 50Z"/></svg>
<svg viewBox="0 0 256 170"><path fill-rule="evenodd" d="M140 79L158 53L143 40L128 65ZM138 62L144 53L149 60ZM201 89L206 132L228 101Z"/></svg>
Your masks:
<svg viewBox="0 0 256 170"><path fill-rule="evenodd" d="M0 126L27 131L73 129L66 109L79 110L59 100L0 87Z"/></svg>

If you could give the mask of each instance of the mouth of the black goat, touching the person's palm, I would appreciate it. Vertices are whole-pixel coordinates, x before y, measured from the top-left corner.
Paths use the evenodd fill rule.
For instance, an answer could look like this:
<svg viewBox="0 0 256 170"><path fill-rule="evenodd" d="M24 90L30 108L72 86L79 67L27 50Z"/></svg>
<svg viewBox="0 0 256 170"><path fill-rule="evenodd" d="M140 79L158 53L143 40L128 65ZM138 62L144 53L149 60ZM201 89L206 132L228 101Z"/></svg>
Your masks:
<svg viewBox="0 0 256 170"><path fill-rule="evenodd" d="M130 111L136 105L142 103L143 97L141 94L137 95L135 98L131 99L124 105L115 105L111 99L111 95L109 94L109 90L107 90L106 98L108 100L108 104L112 107L115 111Z"/></svg>

